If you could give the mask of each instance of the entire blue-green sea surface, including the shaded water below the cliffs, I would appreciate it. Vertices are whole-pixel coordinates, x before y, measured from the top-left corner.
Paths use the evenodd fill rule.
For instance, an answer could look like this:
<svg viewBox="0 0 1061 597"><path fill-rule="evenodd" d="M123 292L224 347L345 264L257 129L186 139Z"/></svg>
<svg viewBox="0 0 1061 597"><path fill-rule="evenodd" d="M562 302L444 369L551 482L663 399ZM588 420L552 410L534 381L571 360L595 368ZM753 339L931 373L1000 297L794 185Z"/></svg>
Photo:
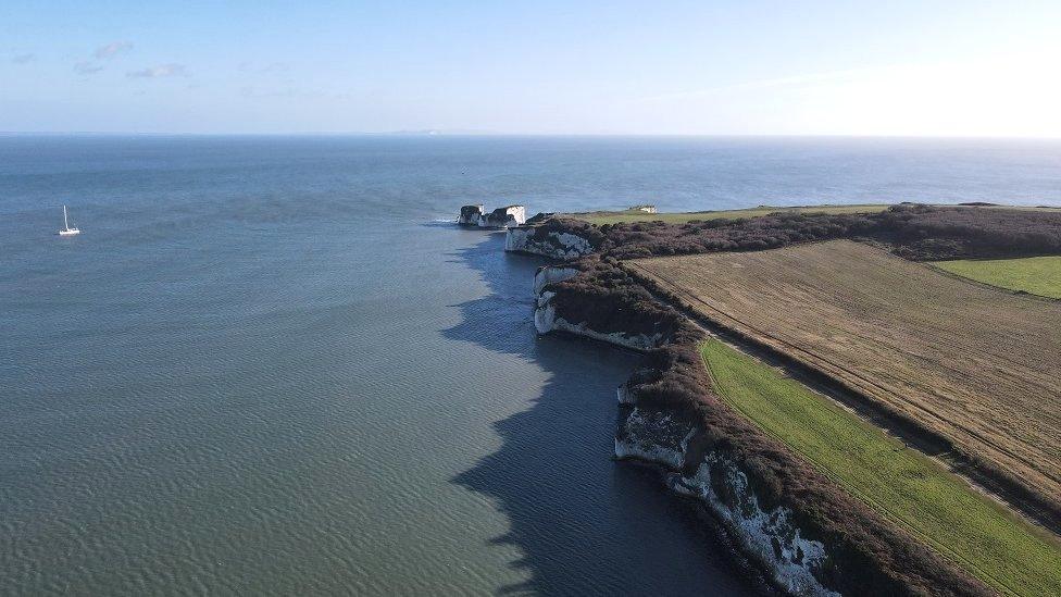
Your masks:
<svg viewBox="0 0 1061 597"><path fill-rule="evenodd" d="M1058 206L1061 144L2 136L0 594L761 593L450 222L870 201Z"/></svg>

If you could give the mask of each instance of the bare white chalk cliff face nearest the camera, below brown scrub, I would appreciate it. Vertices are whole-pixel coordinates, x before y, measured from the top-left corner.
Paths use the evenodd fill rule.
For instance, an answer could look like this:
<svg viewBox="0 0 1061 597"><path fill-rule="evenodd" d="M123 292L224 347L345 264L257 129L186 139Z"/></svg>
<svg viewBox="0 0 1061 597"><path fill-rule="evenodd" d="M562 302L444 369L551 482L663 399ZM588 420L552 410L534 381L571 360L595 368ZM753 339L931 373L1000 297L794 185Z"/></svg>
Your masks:
<svg viewBox="0 0 1061 597"><path fill-rule="evenodd" d="M761 508L735 459L722 450L692 456L689 445L702 431L670 410L638 405L626 386L619 389L622 414L615 433L616 458L637 459L669 471L667 487L706 505L789 593L838 595L814 576L826 563L825 546L802 536L791 511L781 506Z"/></svg>

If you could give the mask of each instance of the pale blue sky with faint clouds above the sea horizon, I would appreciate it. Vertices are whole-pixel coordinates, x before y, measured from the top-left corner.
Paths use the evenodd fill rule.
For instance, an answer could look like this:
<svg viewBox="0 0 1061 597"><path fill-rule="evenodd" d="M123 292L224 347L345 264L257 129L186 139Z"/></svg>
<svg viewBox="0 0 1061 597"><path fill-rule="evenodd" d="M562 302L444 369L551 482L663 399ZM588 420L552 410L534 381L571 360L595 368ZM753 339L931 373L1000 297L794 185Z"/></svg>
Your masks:
<svg viewBox="0 0 1061 597"><path fill-rule="evenodd" d="M1061 137L1061 0L0 1L0 132Z"/></svg>

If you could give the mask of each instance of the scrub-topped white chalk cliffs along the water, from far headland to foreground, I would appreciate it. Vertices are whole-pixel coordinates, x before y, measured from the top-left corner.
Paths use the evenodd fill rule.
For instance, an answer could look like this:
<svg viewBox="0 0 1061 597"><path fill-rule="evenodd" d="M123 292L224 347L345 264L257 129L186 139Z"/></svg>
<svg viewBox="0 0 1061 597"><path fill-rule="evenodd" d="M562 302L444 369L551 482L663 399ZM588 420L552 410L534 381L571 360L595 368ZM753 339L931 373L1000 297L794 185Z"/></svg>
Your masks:
<svg viewBox="0 0 1061 597"><path fill-rule="evenodd" d="M829 480L712 396L699 357L690 355L709 332L689 316L682 300L638 275L622 258L601 257L606 239L599 228L571 219L533 224L509 231L505 250L561 262L535 275L538 332L635 349L652 363L616 390L622 411L617 459L660 467L670 490L704 505L788 593L991 593L836 490ZM624 313L625 321L602 316L606 312Z"/></svg>

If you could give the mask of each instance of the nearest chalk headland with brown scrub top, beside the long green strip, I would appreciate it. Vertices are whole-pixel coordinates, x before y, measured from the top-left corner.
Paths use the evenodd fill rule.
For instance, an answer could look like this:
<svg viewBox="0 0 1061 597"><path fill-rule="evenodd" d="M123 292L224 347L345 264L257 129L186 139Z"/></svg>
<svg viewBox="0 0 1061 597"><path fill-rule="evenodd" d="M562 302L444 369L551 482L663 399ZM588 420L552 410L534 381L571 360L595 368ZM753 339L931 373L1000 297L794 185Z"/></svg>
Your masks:
<svg viewBox="0 0 1061 597"><path fill-rule="evenodd" d="M684 325L619 387L616 458L660 467L792 595L991 593L728 407L702 339Z"/></svg>

